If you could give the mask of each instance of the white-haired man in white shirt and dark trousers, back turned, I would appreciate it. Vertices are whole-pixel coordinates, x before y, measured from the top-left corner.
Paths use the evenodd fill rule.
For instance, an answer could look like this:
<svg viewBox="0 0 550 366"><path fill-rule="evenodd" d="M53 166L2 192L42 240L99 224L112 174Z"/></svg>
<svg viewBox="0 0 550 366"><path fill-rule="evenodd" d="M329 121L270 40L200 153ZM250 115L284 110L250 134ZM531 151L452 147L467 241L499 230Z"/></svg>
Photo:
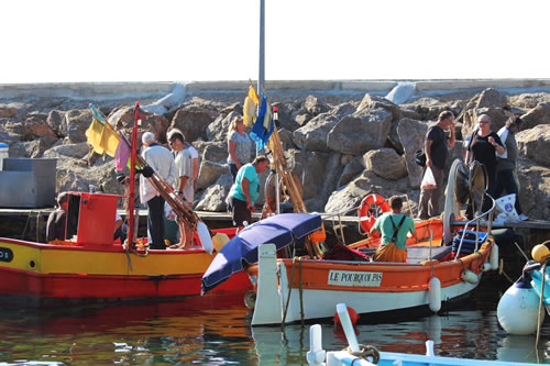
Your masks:
<svg viewBox="0 0 550 366"><path fill-rule="evenodd" d="M145 149L141 156L147 162L153 170L170 186L176 179L176 165L172 153L166 147L156 143L152 132L145 132L142 136ZM140 176L140 200L147 204L147 229L151 235L152 249L165 249L164 244L164 199L145 177Z"/></svg>

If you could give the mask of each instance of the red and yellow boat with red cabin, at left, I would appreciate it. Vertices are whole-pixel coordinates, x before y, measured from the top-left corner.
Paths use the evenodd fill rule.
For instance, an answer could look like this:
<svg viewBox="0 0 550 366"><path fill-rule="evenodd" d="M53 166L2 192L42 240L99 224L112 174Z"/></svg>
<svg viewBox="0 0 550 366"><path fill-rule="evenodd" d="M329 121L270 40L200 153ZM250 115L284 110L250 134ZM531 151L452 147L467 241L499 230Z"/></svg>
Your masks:
<svg viewBox="0 0 550 366"><path fill-rule="evenodd" d="M134 146L136 123L134 121ZM132 156L132 166L135 158ZM130 175L130 195L124 197L131 202L129 207L133 207L134 174L131 171ZM162 191L162 195L167 192ZM135 237L127 245L116 244L113 233L119 198L69 192L67 241L48 244L0 237L0 302L18 307L51 307L199 295L202 274L216 256L206 225L197 222L193 211L183 212L195 220L193 223L197 229L195 246L190 249L148 249L146 245L139 245ZM133 215L133 210L130 210L130 233L136 232ZM231 237L235 229L212 232ZM220 290L248 288L251 288L251 282L242 273Z"/></svg>

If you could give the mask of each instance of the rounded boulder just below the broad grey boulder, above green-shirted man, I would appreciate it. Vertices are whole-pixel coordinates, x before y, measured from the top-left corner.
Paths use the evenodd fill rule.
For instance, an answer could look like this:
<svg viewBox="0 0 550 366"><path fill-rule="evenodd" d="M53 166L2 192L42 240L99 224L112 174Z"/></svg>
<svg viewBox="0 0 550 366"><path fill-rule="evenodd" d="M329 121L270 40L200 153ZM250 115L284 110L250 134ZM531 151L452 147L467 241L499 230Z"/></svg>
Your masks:
<svg viewBox="0 0 550 366"><path fill-rule="evenodd" d="M399 180L407 176L403 156L393 148L372 149L363 155L366 169L386 180Z"/></svg>

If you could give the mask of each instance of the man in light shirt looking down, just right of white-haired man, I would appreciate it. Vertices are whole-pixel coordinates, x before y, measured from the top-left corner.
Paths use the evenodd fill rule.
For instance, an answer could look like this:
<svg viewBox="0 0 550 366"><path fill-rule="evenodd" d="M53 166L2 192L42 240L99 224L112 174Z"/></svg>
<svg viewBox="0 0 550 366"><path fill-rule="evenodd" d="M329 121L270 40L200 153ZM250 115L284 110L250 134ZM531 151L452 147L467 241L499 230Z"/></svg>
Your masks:
<svg viewBox="0 0 550 366"><path fill-rule="evenodd" d="M176 192L189 206L193 207L195 196L194 165L189 148L185 144L185 137L182 131L174 129L168 133L168 143L176 152ZM191 228L184 221L178 222L179 233L182 235L179 246L190 248L193 244Z"/></svg>

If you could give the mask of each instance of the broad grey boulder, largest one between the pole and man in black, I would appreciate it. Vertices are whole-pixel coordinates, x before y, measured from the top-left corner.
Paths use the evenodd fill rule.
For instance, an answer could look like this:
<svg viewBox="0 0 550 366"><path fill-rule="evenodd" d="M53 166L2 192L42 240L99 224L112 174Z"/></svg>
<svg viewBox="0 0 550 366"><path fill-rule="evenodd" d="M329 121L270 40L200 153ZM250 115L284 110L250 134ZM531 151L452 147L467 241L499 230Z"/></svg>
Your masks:
<svg viewBox="0 0 550 366"><path fill-rule="evenodd" d="M361 155L384 146L393 114L383 108L363 108L341 119L329 132L327 147L342 154ZM311 123L311 122L310 122Z"/></svg>

